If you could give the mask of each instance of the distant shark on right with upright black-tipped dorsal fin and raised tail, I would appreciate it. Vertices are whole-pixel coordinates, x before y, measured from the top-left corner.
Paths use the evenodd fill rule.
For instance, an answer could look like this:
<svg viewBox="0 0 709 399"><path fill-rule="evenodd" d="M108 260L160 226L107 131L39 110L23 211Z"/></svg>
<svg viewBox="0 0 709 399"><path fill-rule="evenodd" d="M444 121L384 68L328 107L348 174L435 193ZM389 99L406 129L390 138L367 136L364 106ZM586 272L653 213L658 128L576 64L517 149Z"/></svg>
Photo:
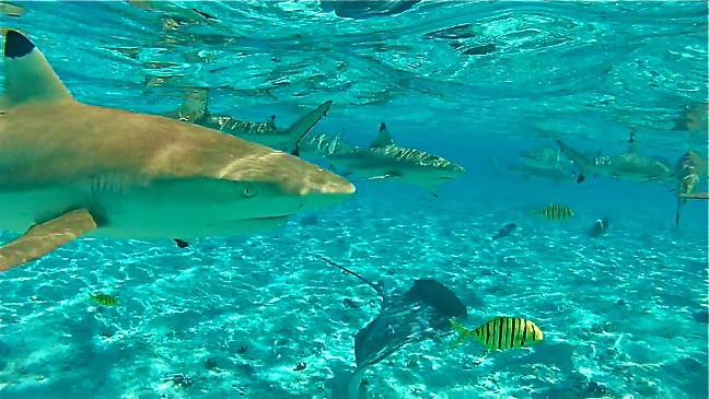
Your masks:
<svg viewBox="0 0 709 399"><path fill-rule="evenodd" d="M672 169L660 161L642 156L638 153L635 142L635 129L630 132L628 151L621 155L601 156L590 161L579 151L557 140L561 151L573 161L579 168L577 183L585 180L586 176L608 175L625 180L659 181L669 184L673 181Z"/></svg>

